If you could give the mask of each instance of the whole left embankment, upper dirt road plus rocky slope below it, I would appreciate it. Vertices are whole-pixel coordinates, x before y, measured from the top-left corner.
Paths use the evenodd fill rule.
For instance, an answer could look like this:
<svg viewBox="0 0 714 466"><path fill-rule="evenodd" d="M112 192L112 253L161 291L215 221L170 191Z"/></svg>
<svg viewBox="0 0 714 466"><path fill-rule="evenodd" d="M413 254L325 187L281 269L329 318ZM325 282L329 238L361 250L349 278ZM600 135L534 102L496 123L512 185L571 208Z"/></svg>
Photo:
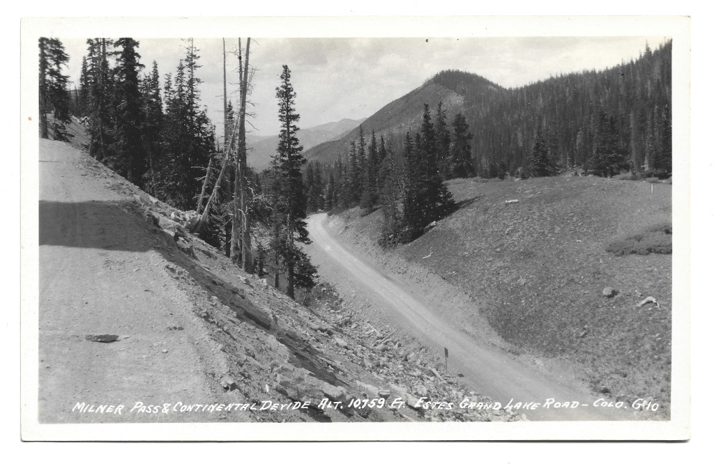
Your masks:
<svg viewBox="0 0 714 466"><path fill-rule="evenodd" d="M337 296L323 293L330 305L311 310L246 275L186 233L184 213L75 148L41 140L39 165L40 422L518 418L418 406L488 399L433 373L420 348L345 312ZM405 402L348 407L373 398ZM309 407L260 409L293 402ZM99 405L124 408L90 412Z"/></svg>

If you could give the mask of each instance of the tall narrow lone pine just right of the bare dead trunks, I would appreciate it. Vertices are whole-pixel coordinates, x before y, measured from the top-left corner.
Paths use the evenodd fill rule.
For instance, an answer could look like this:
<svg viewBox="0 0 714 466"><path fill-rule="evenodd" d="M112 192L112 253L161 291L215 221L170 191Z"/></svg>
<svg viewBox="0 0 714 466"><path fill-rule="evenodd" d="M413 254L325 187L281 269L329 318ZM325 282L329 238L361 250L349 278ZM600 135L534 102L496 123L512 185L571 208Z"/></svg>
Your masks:
<svg viewBox="0 0 714 466"><path fill-rule="evenodd" d="M281 86L276 88L278 98L278 119L281 130L278 134L278 149L271 162L274 173L272 186L273 216L271 250L274 262L285 270L286 293L295 298L295 286L313 284L315 268L296 243L309 244L307 231L306 196L303 187L301 166L305 163L303 148L297 138L297 122L300 115L295 111L296 93L290 82L290 69L283 65ZM312 281L311 281L312 280Z"/></svg>

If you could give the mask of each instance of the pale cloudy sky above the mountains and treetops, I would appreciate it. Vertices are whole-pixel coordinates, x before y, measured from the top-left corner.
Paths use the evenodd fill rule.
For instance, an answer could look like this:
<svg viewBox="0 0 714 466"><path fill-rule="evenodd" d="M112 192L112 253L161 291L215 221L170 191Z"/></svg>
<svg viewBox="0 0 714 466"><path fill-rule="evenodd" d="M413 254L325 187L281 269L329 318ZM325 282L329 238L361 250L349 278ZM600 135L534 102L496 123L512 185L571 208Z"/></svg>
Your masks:
<svg viewBox="0 0 714 466"><path fill-rule="evenodd" d="M59 37L70 56L71 81L79 82L86 39ZM164 75L175 74L186 55L188 41L141 39L139 54L151 71L153 61ZM663 36L628 37L486 37L486 38L300 38L251 39L253 74L249 118L251 132L269 136L279 131L276 87L283 64L291 70L296 91L299 126L310 128L342 118L366 118L421 86L443 69L479 74L504 87L518 87L550 76L584 69L605 69L622 60L636 59L649 44L655 49ZM242 39L245 47L246 39ZM201 103L222 135L223 41L194 39L198 48ZM238 39L226 39L226 51L235 51ZM238 59L228 54L228 93L238 99Z"/></svg>

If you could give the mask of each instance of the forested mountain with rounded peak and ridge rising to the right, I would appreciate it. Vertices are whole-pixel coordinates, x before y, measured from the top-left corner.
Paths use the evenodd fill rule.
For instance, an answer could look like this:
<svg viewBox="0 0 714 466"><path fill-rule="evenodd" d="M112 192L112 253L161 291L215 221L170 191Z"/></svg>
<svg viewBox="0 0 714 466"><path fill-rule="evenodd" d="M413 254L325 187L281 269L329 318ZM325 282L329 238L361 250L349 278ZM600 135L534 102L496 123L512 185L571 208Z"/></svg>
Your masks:
<svg viewBox="0 0 714 466"><path fill-rule="evenodd" d="M612 138L629 168L665 174L672 166L671 74L671 41L655 51L645 46L637 60L602 71L553 76L519 88L503 88L463 71L441 71L367 118L363 128L365 133L395 133L398 146L406 131L418 128L423 104L436 108L443 101L450 121L457 113L466 116L478 176L516 174L538 134L549 158L561 167L587 169L598 138ZM307 151L306 157L334 161L357 136L352 131Z"/></svg>

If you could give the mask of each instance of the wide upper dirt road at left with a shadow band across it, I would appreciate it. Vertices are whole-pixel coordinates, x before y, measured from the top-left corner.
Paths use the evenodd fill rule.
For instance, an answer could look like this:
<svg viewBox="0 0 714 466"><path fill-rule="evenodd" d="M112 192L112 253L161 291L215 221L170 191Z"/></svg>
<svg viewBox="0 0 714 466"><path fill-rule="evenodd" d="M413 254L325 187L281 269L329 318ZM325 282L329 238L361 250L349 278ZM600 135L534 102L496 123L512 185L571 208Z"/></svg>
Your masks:
<svg viewBox="0 0 714 466"><path fill-rule="evenodd" d="M158 237L124 210L130 193L104 170L40 141L39 422L215 420L131 410L214 400L204 373L211 342ZM119 340L86 339L94 334ZM97 414L78 403L124 409Z"/></svg>

